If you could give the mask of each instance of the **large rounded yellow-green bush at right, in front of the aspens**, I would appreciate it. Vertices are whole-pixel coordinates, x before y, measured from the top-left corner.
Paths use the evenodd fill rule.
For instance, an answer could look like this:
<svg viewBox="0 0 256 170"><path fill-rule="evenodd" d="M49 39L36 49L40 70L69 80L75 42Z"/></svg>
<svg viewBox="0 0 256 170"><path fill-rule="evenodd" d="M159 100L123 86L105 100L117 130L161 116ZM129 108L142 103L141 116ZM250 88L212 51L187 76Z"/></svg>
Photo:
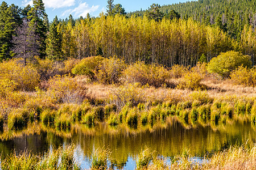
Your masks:
<svg viewBox="0 0 256 170"><path fill-rule="evenodd" d="M217 73L222 78L228 78L233 70L239 66L251 67L249 56L234 51L221 53L219 56L214 57L208 63L207 70L209 73Z"/></svg>

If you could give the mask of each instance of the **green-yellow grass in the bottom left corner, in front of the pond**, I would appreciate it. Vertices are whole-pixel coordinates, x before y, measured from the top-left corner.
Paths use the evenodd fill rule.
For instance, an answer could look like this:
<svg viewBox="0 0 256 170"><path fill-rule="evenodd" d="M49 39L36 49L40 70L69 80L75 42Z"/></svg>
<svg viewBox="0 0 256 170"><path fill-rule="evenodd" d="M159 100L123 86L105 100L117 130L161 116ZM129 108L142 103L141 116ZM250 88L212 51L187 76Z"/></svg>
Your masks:
<svg viewBox="0 0 256 170"><path fill-rule="evenodd" d="M74 157L74 145L53 148L45 155L34 155L32 152L20 152L11 154L1 163L3 170L78 170L81 169Z"/></svg>

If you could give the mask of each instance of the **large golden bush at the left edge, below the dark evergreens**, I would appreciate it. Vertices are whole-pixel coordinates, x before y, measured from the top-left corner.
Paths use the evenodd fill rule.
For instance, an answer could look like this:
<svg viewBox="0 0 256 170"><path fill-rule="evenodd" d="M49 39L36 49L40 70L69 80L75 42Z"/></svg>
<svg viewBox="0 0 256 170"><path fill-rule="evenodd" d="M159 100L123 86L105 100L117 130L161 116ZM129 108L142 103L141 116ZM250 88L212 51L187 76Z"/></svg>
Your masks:
<svg viewBox="0 0 256 170"><path fill-rule="evenodd" d="M22 65L13 59L0 63L0 79L9 79L16 83L18 90L32 91L39 85L40 75L31 65Z"/></svg>

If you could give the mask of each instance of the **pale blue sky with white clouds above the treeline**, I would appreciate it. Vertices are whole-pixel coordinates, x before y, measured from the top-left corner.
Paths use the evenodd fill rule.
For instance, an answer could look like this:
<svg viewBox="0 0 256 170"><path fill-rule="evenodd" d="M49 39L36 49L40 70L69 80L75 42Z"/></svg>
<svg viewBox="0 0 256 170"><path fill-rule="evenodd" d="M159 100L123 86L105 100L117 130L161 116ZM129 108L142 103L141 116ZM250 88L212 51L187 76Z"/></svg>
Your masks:
<svg viewBox="0 0 256 170"><path fill-rule="evenodd" d="M2 3L2 1L0 1ZM32 0L5 0L7 4L14 3L19 7L25 7L26 5L32 5ZM46 12L48 14L49 21L55 18L65 19L69 14L73 15L73 18L85 17L87 13L92 16L98 16L100 12L106 11L106 0L43 0ZM126 12L145 10L152 3L158 3L159 5L168 5L172 3L185 2L185 0L114 0L114 4L121 3Z"/></svg>

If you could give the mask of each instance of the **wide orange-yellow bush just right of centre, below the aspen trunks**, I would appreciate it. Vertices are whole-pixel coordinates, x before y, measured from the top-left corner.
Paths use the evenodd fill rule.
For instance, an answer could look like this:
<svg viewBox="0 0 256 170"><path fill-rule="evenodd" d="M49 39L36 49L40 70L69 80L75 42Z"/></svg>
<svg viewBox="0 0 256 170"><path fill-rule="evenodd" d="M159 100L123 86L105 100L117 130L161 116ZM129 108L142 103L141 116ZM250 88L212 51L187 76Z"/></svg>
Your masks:
<svg viewBox="0 0 256 170"><path fill-rule="evenodd" d="M125 70L125 78L128 83L140 83L142 86L161 87L164 84L170 86L168 78L170 74L163 66L146 65L143 62L137 62L130 65Z"/></svg>

